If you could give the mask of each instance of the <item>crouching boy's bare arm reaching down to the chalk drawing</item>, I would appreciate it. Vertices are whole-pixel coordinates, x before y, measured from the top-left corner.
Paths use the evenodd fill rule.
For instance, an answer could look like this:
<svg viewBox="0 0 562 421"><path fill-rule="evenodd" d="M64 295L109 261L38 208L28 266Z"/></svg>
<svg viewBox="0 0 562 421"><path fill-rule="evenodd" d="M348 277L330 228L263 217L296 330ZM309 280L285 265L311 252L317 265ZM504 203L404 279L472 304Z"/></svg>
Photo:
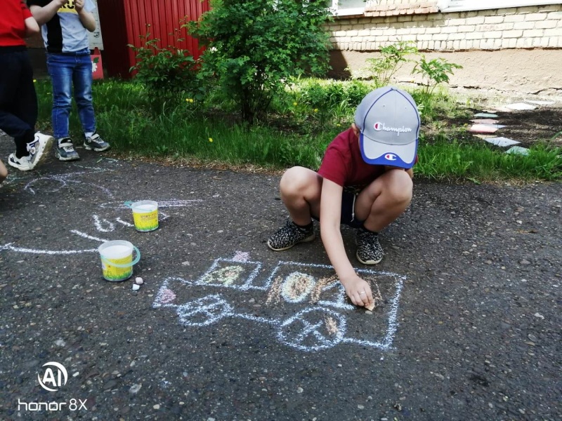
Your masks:
<svg viewBox="0 0 562 421"><path fill-rule="evenodd" d="M346 294L355 305L372 304L373 297L369 283L362 280L349 261L344 240L341 238L341 193L343 187L335 182L322 180L320 196L320 236L336 274L346 288ZM362 293L365 291L365 293Z"/></svg>

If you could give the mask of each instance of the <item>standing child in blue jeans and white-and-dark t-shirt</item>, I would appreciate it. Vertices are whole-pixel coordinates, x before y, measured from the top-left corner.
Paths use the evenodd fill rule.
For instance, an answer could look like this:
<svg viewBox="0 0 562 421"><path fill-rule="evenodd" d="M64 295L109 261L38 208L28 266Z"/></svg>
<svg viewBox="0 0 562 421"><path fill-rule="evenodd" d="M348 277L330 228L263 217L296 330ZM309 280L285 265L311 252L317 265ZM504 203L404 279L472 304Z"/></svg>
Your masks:
<svg viewBox="0 0 562 421"><path fill-rule="evenodd" d="M91 13L92 0L27 0L33 17L41 26L47 49L47 67L53 84L53 134L57 140L55 156L60 161L79 159L70 139L68 117L74 100L84 130L84 148L103 152L110 145L96 133L92 103L92 64L88 31L96 29Z"/></svg>

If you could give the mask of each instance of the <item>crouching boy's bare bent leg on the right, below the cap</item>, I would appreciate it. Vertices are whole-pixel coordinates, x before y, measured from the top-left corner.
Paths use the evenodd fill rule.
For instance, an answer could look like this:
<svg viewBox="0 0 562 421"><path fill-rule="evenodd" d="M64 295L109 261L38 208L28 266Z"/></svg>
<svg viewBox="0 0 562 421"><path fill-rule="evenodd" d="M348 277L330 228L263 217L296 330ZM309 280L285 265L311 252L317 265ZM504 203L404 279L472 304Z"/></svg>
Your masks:
<svg viewBox="0 0 562 421"><path fill-rule="evenodd" d="M365 228L379 232L410 205L412 189L412 178L406 171L386 171L359 194L355 201L355 215L365 221Z"/></svg>

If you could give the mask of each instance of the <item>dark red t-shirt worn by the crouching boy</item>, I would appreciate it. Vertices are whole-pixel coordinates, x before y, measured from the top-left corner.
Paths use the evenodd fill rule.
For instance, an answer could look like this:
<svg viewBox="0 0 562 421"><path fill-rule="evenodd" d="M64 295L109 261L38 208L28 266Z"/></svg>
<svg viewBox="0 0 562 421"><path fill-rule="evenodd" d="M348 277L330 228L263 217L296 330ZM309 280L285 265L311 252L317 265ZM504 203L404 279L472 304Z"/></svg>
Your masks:
<svg viewBox="0 0 562 421"><path fill-rule="evenodd" d="M384 173L384 166L363 161L353 129L339 133L328 145L318 174L341 187L365 187Z"/></svg>

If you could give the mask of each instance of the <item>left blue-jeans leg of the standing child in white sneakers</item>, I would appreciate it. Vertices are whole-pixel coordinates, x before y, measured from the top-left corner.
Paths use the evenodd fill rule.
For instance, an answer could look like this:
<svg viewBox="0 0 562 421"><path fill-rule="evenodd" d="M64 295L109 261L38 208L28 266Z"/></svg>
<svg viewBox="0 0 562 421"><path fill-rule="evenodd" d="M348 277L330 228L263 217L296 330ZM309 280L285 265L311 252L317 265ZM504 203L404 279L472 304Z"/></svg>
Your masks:
<svg viewBox="0 0 562 421"><path fill-rule="evenodd" d="M68 116L72 102L72 67L76 58L71 55L47 54L48 74L53 85L53 135L56 139L68 138Z"/></svg>

